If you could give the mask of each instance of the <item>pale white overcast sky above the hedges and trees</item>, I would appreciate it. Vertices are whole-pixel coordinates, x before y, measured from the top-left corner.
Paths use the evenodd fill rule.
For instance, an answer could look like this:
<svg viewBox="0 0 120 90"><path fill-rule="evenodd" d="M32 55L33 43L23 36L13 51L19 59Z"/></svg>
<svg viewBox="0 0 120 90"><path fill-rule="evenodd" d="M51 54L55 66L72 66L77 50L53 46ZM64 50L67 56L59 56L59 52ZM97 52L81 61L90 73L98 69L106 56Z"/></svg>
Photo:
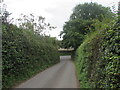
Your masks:
<svg viewBox="0 0 120 90"><path fill-rule="evenodd" d="M21 13L45 17L46 22L57 27L48 34L60 40L58 35L63 30L64 23L69 20L73 8L91 1L106 7L115 6L117 9L120 0L4 0L4 3L7 5L6 9L12 13L11 17L15 19L19 18Z"/></svg>

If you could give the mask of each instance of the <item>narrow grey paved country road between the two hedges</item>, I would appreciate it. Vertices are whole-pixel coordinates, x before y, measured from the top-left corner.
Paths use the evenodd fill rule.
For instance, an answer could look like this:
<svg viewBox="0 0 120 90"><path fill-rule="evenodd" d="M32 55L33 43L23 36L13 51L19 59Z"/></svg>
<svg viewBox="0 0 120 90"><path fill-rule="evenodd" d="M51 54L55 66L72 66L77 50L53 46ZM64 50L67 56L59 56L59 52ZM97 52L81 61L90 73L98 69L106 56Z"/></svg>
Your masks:
<svg viewBox="0 0 120 90"><path fill-rule="evenodd" d="M60 63L37 74L16 88L78 88L71 56L60 56Z"/></svg>

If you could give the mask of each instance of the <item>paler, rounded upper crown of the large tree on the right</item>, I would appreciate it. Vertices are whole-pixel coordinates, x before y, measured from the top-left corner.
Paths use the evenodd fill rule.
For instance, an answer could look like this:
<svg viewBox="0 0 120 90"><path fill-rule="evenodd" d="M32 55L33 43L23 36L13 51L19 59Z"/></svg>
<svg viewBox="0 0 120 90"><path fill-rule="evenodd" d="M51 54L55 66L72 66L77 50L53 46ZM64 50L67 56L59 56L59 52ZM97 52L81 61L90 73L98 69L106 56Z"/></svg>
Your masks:
<svg viewBox="0 0 120 90"><path fill-rule="evenodd" d="M97 3L84 3L79 4L74 8L73 14L70 16L70 19L98 19L102 21L106 17L113 18L113 16L114 14L111 12L111 9L109 7L104 7Z"/></svg>

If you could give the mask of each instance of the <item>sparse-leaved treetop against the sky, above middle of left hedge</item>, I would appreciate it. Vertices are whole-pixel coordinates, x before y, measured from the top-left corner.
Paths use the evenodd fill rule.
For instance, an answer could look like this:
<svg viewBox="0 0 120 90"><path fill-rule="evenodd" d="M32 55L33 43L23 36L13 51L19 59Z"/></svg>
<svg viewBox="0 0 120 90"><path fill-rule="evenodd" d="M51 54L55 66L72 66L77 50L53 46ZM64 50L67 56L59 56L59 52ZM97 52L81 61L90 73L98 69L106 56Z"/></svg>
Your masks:
<svg viewBox="0 0 120 90"><path fill-rule="evenodd" d="M44 17L35 17L33 14L30 14L29 16L21 14L21 18L19 18L18 21L20 28L33 30L38 34L41 34L41 32L45 29L51 30L56 28L51 26L50 23L46 23Z"/></svg>

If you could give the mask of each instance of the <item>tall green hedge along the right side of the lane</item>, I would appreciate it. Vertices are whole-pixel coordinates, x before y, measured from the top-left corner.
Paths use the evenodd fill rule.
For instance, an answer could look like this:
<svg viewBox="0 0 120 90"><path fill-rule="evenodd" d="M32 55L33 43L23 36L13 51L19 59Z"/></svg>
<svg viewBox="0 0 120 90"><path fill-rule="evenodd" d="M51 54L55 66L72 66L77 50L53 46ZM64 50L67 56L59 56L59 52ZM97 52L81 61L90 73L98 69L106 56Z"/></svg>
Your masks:
<svg viewBox="0 0 120 90"><path fill-rule="evenodd" d="M76 52L81 88L120 88L120 27L92 33Z"/></svg>

